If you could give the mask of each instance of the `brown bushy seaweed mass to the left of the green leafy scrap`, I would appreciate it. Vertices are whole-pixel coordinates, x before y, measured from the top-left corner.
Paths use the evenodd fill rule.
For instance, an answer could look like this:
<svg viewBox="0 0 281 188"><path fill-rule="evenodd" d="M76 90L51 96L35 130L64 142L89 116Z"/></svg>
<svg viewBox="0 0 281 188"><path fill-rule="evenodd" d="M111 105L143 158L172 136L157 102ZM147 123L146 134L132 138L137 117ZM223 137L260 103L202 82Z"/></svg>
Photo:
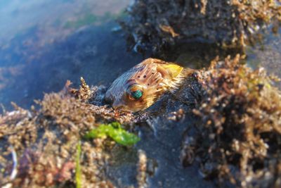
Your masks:
<svg viewBox="0 0 281 188"><path fill-rule="evenodd" d="M78 90L67 82L63 91L45 94L37 109L15 106L0 115L0 187L113 186L105 168L115 143L83 137L102 123L129 124L133 115L89 104L98 89L81 82Z"/></svg>

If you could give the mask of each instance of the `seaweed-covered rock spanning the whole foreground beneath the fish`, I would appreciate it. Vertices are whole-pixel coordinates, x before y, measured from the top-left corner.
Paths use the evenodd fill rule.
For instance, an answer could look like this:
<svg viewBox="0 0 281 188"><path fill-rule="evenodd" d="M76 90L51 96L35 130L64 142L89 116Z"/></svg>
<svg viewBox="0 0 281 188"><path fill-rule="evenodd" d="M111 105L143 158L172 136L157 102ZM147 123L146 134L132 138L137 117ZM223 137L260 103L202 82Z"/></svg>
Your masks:
<svg viewBox="0 0 281 188"><path fill-rule="evenodd" d="M63 91L46 94L37 110L15 106L0 116L1 186L206 187L194 173L199 163L201 175L220 184L280 187L281 96L263 69L253 71L238 57L216 60L135 114L114 111L103 104L104 87L81 82L80 89L67 82ZM131 132L136 125L150 129L140 131L133 148L83 139L114 121ZM181 168L178 155L193 171Z"/></svg>

